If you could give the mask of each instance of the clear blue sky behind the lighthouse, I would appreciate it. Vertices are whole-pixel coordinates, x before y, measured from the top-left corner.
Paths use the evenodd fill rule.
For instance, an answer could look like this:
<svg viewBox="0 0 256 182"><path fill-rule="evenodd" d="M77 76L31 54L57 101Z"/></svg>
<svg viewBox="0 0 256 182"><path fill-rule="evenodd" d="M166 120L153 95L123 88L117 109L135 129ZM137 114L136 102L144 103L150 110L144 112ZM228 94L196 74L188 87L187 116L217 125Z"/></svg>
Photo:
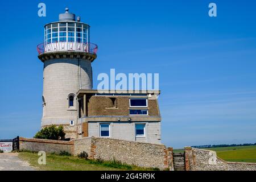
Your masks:
<svg viewBox="0 0 256 182"><path fill-rule="evenodd" d="M47 6L39 18L38 3ZM210 2L217 18L208 16ZM162 141L256 142L255 1L4 1L0 138L33 137L42 117L43 26L65 7L90 24L97 75L159 73Z"/></svg>

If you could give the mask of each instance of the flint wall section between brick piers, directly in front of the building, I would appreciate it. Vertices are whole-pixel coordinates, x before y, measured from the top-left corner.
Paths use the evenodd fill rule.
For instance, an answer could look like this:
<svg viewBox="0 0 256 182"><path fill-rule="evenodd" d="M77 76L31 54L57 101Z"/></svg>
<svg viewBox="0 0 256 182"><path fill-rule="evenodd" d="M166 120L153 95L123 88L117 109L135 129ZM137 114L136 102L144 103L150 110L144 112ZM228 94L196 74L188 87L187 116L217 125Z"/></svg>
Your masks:
<svg viewBox="0 0 256 182"><path fill-rule="evenodd" d="M118 160L141 167L172 168L172 148L160 144L92 137L91 149L92 159Z"/></svg>

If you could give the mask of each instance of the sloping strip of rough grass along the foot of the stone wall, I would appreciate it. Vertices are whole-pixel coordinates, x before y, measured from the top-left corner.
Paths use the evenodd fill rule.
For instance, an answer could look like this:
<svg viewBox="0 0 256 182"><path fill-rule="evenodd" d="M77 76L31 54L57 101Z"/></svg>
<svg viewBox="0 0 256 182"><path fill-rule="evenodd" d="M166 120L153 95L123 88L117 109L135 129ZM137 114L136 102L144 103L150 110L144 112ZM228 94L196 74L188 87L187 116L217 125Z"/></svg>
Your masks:
<svg viewBox="0 0 256 182"><path fill-rule="evenodd" d="M75 156L46 155L46 165L38 164L37 152L20 152L19 158L26 160L32 167L43 171L148 171L157 168L142 168L122 164L116 160L103 162L102 160L85 160Z"/></svg>

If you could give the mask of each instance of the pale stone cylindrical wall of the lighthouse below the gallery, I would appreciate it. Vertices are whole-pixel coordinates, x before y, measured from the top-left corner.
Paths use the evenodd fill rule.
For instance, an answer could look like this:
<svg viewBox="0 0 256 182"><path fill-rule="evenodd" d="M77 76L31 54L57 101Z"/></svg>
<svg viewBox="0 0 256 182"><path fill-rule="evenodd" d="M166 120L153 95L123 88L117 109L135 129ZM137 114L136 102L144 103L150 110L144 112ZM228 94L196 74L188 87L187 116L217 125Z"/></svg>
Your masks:
<svg viewBox="0 0 256 182"><path fill-rule="evenodd" d="M46 104L43 107L42 126L68 125L71 120L76 124L77 98L74 107L69 108L68 96L80 89L80 71L82 89L92 89L91 61L75 57L44 61L43 96Z"/></svg>

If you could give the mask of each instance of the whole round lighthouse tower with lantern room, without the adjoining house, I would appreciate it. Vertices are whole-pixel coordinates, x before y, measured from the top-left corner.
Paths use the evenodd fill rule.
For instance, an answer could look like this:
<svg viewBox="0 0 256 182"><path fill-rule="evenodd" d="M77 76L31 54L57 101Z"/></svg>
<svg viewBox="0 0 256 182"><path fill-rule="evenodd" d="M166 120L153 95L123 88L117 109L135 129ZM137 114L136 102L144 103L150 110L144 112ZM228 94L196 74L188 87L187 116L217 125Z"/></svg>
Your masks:
<svg viewBox="0 0 256 182"><path fill-rule="evenodd" d="M63 125L66 138L77 138L76 93L92 89L97 46L90 43L90 26L68 11L44 26L44 43L38 46L44 64L42 127Z"/></svg>

